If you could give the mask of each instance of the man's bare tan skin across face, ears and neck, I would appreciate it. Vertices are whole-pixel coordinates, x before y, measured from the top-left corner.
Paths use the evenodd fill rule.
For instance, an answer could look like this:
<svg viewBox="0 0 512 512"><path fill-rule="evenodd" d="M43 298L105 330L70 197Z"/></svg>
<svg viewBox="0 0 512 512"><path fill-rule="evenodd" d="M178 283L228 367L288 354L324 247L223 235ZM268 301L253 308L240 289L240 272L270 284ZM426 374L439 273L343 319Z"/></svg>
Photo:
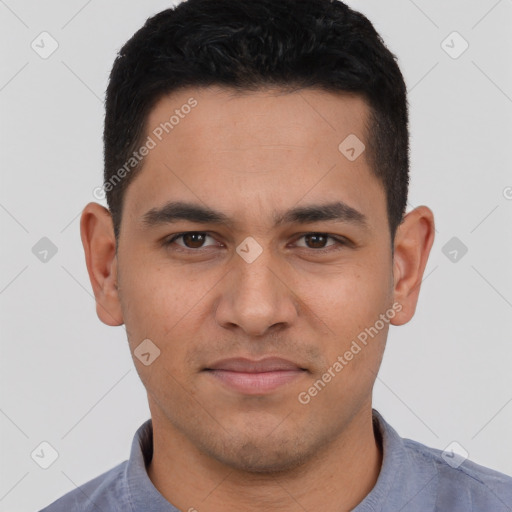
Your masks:
<svg viewBox="0 0 512 512"><path fill-rule="evenodd" d="M117 254L108 210L89 203L81 217L100 320L125 324L132 355L146 338L161 351L149 366L133 357L153 420L148 475L180 510L350 510L382 464L371 408L389 324L309 403L298 395L394 303L391 324L412 318L433 214L420 206L406 215L392 257L382 184L365 152L349 161L338 150L350 133L365 141L368 106L357 95L190 88L156 104L148 134L190 97L198 105L127 188ZM144 228L141 217L169 200L222 211L233 225ZM366 227L274 226L274 212L335 200L363 213ZM209 236L202 246L183 238L163 245L184 231ZM315 245L307 233L351 243ZM252 263L236 252L248 236L262 248ZM267 356L307 371L260 395L202 371L223 358Z"/></svg>

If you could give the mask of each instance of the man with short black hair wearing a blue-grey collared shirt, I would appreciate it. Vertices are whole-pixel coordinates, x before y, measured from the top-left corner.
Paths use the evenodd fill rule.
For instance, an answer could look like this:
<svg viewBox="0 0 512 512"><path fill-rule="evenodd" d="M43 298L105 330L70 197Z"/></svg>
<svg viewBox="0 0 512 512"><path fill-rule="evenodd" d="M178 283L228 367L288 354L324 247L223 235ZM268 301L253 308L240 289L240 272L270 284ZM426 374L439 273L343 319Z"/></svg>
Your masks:
<svg viewBox="0 0 512 512"><path fill-rule="evenodd" d="M44 511L512 510L512 478L372 409L433 214L405 215L406 89L330 0L188 0L107 89L109 209L81 218L97 314L126 326L151 420Z"/></svg>

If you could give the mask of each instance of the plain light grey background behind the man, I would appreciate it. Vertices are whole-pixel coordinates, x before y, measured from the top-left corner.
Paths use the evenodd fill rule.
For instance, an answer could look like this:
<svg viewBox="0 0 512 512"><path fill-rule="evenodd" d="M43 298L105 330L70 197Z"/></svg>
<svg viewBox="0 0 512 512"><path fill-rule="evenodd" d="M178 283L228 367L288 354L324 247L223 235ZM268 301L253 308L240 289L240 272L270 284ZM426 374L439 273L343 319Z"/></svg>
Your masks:
<svg viewBox="0 0 512 512"><path fill-rule="evenodd" d="M457 441L512 474L512 1L349 4L399 58L410 206L430 206L437 223L416 316L391 328L374 406L402 436ZM125 330L96 317L79 215L102 182L116 52L170 5L0 0L2 511L37 510L125 460L149 417ZM31 47L42 31L59 45L47 59ZM469 43L458 58L454 31ZM43 237L57 248L46 262L32 250ZM453 237L459 247L443 252ZM42 441L59 454L48 469L31 458Z"/></svg>

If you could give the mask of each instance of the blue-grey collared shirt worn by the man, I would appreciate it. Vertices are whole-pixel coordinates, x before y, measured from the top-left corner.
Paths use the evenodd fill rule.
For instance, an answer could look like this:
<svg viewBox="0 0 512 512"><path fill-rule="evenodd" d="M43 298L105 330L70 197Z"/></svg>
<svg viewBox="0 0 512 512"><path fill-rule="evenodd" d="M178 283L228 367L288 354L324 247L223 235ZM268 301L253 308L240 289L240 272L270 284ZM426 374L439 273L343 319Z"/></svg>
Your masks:
<svg viewBox="0 0 512 512"><path fill-rule="evenodd" d="M372 417L383 450L382 466L375 486L353 512L512 512L512 477L463 460L453 451L404 439L375 409ZM133 438L129 460L40 512L179 512L148 477L152 456L149 419ZM201 510L200 504L196 507Z"/></svg>

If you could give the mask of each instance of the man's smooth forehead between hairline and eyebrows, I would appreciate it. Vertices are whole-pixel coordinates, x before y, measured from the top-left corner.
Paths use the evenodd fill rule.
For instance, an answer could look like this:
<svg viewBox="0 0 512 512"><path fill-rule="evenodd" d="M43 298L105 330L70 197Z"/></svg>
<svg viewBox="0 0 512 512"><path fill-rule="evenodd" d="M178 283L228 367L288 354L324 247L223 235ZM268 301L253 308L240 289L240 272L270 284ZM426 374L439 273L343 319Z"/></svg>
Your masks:
<svg viewBox="0 0 512 512"><path fill-rule="evenodd" d="M366 145L368 113L357 95L311 89L174 92L148 116L145 140L153 147L127 189L125 208L135 217L169 200L189 200L240 219L267 215L269 222L300 202L385 208L365 151L349 159L340 150L347 138L356 150Z"/></svg>

